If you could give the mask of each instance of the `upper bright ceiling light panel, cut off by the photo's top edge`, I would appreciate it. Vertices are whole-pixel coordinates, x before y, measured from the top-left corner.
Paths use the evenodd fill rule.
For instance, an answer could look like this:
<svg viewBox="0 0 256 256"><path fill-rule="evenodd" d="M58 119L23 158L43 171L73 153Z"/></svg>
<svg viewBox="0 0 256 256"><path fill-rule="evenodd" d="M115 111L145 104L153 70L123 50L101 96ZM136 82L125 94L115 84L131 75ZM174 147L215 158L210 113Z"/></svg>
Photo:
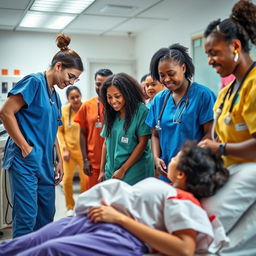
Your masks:
<svg viewBox="0 0 256 256"><path fill-rule="evenodd" d="M30 10L79 14L95 0L35 0Z"/></svg>

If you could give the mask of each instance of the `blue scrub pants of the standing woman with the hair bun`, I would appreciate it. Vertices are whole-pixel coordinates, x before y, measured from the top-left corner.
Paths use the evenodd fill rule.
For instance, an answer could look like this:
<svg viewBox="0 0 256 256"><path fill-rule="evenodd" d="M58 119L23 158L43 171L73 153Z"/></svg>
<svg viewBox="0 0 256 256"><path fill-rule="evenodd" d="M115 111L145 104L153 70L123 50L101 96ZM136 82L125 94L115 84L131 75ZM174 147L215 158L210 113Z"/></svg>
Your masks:
<svg viewBox="0 0 256 256"><path fill-rule="evenodd" d="M13 238L33 232L53 221L55 186L38 167L14 161L9 171L13 202ZM53 179L54 180L54 179Z"/></svg>

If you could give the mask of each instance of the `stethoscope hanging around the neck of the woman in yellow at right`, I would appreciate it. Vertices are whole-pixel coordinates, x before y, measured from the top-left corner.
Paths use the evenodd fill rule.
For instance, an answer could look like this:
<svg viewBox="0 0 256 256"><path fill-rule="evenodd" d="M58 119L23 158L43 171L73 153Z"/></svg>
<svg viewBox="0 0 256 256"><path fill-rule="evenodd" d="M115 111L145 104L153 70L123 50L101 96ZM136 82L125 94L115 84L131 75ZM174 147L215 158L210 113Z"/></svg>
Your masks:
<svg viewBox="0 0 256 256"><path fill-rule="evenodd" d="M227 116L224 118L224 123L226 125L230 125L231 124L231 113L233 111L233 108L234 108L234 105L235 105L235 102L237 100L237 97L238 97L238 93L240 91L240 89L242 88L242 85L244 83L244 80L246 79L246 77L248 76L248 74L251 72L251 70L256 66L256 62L253 62L252 65L249 67L249 69L246 71L245 75L243 76L240 84L238 85L238 88L235 92L235 95L232 99L232 102L231 102L231 105L230 105L230 108L229 108L229 111L228 111L228 114ZM215 113L214 113L214 121L213 121L213 125L212 125L212 139L213 140L217 140L217 138L215 138L215 128L216 128L216 123L217 123L217 120L219 119L221 113L222 113L222 110L223 110L223 107L224 107L224 104L225 104L225 101L226 101L226 98L230 98L233 90L234 90L234 87L235 87L235 84L237 83L236 79L233 81L233 83L229 86L228 90L226 91L223 99L222 99L222 102L221 104L219 105L219 107L216 109Z"/></svg>

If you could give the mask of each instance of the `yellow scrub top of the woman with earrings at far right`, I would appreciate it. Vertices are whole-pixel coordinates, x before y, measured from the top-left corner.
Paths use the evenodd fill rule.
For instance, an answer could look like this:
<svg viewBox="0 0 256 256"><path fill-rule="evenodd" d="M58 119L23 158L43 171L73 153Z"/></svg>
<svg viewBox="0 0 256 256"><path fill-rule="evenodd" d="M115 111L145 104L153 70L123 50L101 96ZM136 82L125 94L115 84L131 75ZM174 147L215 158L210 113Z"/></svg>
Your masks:
<svg viewBox="0 0 256 256"><path fill-rule="evenodd" d="M223 97L229 86L223 88L214 105L214 111L221 105ZM238 143L252 138L252 134L256 133L256 67L254 67L245 81L242 88L238 92L237 100L231 113L231 123L225 124L224 119L228 115L234 93L226 97L222 113L216 123L216 133L219 141L224 143ZM238 158L234 156L223 156L225 166L232 164L248 162L248 159ZM250 160L250 162L256 162Z"/></svg>

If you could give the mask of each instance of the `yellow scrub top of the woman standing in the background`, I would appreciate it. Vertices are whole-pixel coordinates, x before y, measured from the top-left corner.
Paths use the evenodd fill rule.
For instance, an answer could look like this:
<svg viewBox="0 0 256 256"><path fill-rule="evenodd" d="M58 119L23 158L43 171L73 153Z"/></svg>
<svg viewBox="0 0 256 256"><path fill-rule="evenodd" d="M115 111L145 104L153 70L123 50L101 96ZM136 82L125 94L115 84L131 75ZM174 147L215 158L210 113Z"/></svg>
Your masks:
<svg viewBox="0 0 256 256"><path fill-rule="evenodd" d="M64 150L64 148L67 148L72 153L71 155L77 154L77 156L80 155L82 158L79 141L80 125L74 122L75 114L76 113L70 107L70 104L67 104L62 108L63 125L59 126L58 139L62 151Z"/></svg>

